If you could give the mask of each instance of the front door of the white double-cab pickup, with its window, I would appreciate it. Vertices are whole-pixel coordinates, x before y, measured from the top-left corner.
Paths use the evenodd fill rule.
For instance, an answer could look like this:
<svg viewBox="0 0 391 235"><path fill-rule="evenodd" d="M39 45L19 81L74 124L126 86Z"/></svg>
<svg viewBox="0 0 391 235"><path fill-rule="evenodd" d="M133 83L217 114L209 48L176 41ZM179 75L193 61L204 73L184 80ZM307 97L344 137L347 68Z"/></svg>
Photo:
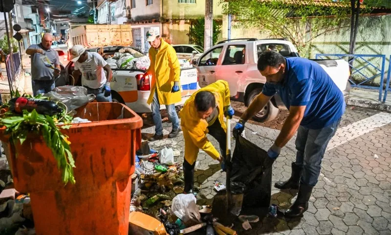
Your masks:
<svg viewBox="0 0 391 235"><path fill-rule="evenodd" d="M212 48L198 60L198 84L200 87L206 87L216 82L217 63L220 60L222 50L223 46Z"/></svg>

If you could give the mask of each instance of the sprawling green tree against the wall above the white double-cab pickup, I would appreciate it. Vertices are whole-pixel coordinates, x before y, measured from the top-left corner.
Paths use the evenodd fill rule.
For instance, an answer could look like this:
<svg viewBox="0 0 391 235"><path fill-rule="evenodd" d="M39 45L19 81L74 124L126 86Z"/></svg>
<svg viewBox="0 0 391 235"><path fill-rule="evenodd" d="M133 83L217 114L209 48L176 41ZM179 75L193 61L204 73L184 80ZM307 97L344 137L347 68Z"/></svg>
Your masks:
<svg viewBox="0 0 391 235"><path fill-rule="evenodd" d="M312 0L230 0L222 7L223 14L234 16L236 27L257 28L271 37L286 38L304 57L309 56L315 38L348 29L351 11L350 0L323 0L322 4ZM361 13L366 12L364 7Z"/></svg>

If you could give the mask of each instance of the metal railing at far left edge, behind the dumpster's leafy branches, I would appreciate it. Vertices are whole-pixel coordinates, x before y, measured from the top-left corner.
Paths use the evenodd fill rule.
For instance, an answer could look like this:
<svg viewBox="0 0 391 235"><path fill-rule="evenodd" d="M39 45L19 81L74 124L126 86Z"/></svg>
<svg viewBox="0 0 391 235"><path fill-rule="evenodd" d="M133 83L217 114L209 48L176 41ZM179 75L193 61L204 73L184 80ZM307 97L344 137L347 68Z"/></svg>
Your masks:
<svg viewBox="0 0 391 235"><path fill-rule="evenodd" d="M13 53L12 55L12 63L10 55L7 55L5 59L5 67L7 76L2 75L1 69L1 82L0 82L0 90L1 93L10 93L14 86L16 86L17 81L20 78L22 66L21 66L21 55L20 53Z"/></svg>

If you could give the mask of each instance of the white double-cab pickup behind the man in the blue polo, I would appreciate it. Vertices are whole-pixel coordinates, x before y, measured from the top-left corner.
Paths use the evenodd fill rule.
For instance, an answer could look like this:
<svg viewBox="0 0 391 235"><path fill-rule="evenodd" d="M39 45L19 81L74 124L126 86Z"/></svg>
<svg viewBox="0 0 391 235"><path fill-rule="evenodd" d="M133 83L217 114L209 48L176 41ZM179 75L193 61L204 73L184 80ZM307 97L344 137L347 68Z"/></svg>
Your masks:
<svg viewBox="0 0 391 235"><path fill-rule="evenodd" d="M261 93L266 78L257 69L258 57L265 50L275 50L285 57L298 57L296 47L283 39L238 39L218 43L197 60L198 83L205 87L217 80L229 84L231 99L248 106ZM349 64L345 60L314 60L322 66L344 93L345 101L350 92ZM254 120L273 120L279 108L285 108L281 98L275 95ZM286 109L286 108L285 108Z"/></svg>

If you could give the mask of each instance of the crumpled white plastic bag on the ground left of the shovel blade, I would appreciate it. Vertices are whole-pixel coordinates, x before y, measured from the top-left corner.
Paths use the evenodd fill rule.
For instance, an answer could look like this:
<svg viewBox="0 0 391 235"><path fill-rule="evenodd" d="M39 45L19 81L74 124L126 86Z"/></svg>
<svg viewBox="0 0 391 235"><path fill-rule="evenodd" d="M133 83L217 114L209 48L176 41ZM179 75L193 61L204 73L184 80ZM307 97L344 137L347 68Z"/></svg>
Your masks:
<svg viewBox="0 0 391 235"><path fill-rule="evenodd" d="M196 202L197 200L193 193L178 194L173 199L171 211L185 223L189 220L200 222L201 215Z"/></svg>

